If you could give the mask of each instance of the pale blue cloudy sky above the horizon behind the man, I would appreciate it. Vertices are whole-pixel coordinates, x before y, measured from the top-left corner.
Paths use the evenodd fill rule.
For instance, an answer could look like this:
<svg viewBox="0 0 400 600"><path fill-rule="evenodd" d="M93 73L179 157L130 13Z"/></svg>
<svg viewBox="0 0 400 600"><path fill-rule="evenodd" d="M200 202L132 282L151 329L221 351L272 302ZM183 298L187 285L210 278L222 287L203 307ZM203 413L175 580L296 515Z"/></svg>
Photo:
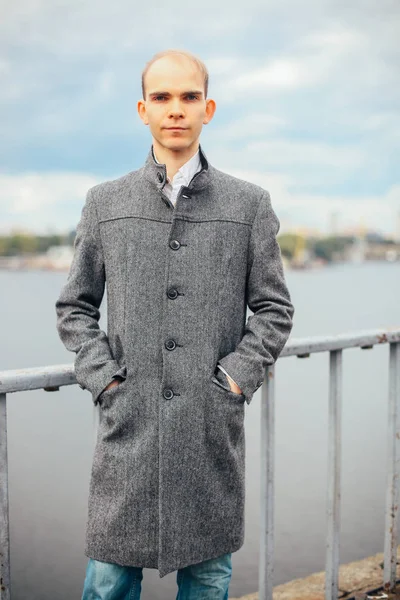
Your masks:
<svg viewBox="0 0 400 600"><path fill-rule="evenodd" d="M141 72L206 64L200 143L268 190L281 232L400 235L398 0L1 2L0 234L76 228L87 190L143 166Z"/></svg>

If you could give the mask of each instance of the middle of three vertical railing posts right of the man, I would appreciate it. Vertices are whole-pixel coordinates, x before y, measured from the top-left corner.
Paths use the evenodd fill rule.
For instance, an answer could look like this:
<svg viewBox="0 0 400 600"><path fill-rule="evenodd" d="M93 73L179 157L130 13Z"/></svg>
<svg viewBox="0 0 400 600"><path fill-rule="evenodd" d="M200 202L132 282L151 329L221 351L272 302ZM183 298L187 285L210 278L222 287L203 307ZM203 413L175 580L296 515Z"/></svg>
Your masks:
<svg viewBox="0 0 400 600"><path fill-rule="evenodd" d="M328 491L325 600L339 589L342 350L329 353Z"/></svg>

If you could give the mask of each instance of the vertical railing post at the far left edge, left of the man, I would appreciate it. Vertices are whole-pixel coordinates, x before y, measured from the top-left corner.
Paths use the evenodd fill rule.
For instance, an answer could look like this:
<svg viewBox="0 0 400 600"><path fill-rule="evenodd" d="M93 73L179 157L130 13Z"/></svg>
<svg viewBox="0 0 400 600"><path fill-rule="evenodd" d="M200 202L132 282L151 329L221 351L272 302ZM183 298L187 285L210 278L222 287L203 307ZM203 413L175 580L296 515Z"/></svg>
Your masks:
<svg viewBox="0 0 400 600"><path fill-rule="evenodd" d="M0 393L0 600L10 600L10 526L8 509L7 394Z"/></svg>

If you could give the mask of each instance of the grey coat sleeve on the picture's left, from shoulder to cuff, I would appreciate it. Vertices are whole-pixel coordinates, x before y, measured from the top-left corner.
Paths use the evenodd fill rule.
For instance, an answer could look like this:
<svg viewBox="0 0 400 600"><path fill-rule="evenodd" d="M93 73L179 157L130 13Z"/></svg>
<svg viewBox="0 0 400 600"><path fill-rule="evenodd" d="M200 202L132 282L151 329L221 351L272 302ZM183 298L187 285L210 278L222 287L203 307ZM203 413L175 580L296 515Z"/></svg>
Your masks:
<svg viewBox="0 0 400 600"><path fill-rule="evenodd" d="M99 327L105 269L92 189L86 195L74 240L67 282L56 301L57 331L67 350L76 353L75 376L97 400L114 377L125 377Z"/></svg>

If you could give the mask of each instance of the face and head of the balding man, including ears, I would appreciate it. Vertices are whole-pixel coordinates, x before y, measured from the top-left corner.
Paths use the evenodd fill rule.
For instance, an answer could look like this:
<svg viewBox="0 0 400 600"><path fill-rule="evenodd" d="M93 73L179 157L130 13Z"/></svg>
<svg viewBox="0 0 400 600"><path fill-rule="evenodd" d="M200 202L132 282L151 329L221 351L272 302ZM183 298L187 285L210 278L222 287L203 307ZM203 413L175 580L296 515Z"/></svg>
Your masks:
<svg viewBox="0 0 400 600"><path fill-rule="evenodd" d="M145 91L138 112L150 127L156 150L157 144L178 153L194 146L215 112L214 100L205 99L197 66L185 57L160 58L147 72Z"/></svg>

